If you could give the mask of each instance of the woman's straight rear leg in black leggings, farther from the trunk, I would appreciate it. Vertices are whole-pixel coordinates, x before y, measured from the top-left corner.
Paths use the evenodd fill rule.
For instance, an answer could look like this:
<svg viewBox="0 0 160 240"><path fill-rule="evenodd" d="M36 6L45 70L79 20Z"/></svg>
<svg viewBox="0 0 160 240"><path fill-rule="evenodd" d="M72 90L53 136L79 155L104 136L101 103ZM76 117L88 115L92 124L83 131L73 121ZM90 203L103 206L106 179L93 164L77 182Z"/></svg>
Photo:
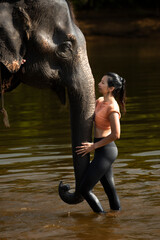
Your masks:
<svg viewBox="0 0 160 240"><path fill-rule="evenodd" d="M108 196L110 208L112 210L120 210L120 201L115 189L112 167L108 169L100 181Z"/></svg>

